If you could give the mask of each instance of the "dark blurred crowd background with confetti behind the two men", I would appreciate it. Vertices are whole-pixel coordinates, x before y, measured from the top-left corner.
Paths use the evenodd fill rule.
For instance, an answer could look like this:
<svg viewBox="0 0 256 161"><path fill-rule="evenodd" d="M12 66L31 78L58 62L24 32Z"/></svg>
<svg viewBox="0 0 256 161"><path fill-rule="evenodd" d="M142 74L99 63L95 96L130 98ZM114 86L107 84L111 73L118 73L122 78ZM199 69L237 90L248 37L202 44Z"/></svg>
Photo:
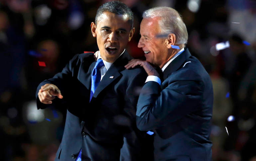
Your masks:
<svg viewBox="0 0 256 161"><path fill-rule="evenodd" d="M38 84L77 53L97 51L90 23L107 0L0 0L0 160L53 161L64 131L64 107L37 110ZM175 8L187 47L214 89L213 161L256 160L256 1L122 0L134 12L135 57L142 13ZM44 64L44 63L45 64Z"/></svg>

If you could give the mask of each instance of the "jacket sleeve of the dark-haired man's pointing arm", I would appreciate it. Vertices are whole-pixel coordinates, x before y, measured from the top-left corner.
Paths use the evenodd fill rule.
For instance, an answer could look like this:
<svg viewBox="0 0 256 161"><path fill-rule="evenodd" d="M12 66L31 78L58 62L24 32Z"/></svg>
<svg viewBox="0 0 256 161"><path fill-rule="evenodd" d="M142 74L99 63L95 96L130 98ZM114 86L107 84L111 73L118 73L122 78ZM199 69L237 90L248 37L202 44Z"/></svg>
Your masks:
<svg viewBox="0 0 256 161"><path fill-rule="evenodd" d="M71 79L73 77L77 77L77 72L81 61L79 60L79 54L76 54L70 61L69 63L64 67L64 69L62 70L62 72L57 73L53 78L45 80L43 82L41 82L38 87L37 87L37 91L36 91L36 100L37 100L37 108L38 109L45 109L47 107L51 107L51 106L55 106L57 102L59 102L59 98L56 97L53 100L52 104L43 104L40 102L39 98L38 98L38 92L41 88L42 85L45 85L47 83L51 83L56 85L62 92L62 95L65 95L65 91L67 91L68 86L71 85Z"/></svg>

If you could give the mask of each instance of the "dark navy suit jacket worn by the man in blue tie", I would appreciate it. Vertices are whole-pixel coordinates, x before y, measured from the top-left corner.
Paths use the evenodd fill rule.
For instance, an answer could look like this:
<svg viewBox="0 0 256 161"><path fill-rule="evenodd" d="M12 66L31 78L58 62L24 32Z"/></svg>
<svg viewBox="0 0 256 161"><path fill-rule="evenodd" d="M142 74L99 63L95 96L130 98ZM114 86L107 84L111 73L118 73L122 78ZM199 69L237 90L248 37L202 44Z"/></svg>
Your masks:
<svg viewBox="0 0 256 161"><path fill-rule="evenodd" d="M62 142L56 161L75 160L82 148L82 160L153 160L153 136L136 127L136 88L147 77L143 68L126 70L131 57L123 53L108 69L89 102L93 53L77 54L61 73L39 84L55 84L63 99L52 105L67 108ZM43 104L37 97L38 108ZM121 149L121 152L120 152Z"/></svg>

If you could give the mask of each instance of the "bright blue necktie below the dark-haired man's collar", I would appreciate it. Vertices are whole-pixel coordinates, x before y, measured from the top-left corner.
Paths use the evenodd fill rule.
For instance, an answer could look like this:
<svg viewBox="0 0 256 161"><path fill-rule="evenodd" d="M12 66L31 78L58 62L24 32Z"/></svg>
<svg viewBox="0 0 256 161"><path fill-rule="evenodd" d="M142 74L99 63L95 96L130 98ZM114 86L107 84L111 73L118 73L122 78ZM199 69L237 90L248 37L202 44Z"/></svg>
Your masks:
<svg viewBox="0 0 256 161"><path fill-rule="evenodd" d="M93 70L91 73L91 94L90 94L90 101L91 98L97 88L97 86L99 85L100 82L100 78L101 78L101 74L100 74L100 68L104 66L103 60L102 59L98 59Z"/></svg>

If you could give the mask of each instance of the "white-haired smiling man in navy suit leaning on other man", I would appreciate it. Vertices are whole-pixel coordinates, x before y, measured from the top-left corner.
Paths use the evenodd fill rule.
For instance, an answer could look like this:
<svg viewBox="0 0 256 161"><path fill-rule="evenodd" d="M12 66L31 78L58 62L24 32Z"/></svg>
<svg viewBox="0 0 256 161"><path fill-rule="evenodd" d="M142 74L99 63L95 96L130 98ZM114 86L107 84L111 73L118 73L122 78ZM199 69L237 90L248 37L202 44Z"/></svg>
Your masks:
<svg viewBox="0 0 256 161"><path fill-rule="evenodd" d="M146 61L132 60L125 67L140 65L148 74L136 122L140 130L155 132L155 160L210 161L212 83L202 64L184 49L188 32L182 18L169 7L149 9L140 34L138 47ZM149 63L162 69L162 81Z"/></svg>

